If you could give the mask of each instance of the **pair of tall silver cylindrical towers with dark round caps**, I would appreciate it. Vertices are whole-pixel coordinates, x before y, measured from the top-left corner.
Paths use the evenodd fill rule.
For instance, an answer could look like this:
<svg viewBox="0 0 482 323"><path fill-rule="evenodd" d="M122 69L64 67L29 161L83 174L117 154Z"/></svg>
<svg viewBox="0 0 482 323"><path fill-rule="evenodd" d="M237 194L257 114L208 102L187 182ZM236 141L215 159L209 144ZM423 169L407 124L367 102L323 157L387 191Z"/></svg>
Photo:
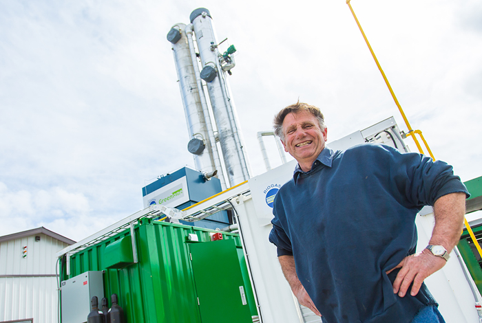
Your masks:
<svg viewBox="0 0 482 323"><path fill-rule="evenodd" d="M227 74L231 74L235 66L233 54L236 49L231 45L226 52L219 52L220 43L214 33L209 10L198 8L189 18L189 25L177 23L167 34L174 52L191 137L188 149L194 155L198 170L218 170L224 190L249 179L249 163L227 80ZM209 94L209 103L204 85ZM211 113L216 121L214 125L211 123ZM224 181L224 170L228 183Z"/></svg>

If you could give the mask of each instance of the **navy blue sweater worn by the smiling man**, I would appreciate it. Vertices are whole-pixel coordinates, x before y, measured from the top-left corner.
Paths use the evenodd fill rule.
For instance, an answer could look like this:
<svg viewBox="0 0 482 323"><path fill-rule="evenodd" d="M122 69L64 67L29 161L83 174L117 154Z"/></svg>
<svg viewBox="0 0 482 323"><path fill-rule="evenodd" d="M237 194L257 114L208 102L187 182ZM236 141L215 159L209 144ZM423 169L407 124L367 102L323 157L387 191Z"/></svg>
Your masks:
<svg viewBox="0 0 482 323"><path fill-rule="evenodd" d="M324 322L408 323L436 303L425 285L400 298L397 271L386 271L415 253L417 212L452 192L468 194L443 161L374 144L324 148L277 192L269 240L294 256Z"/></svg>

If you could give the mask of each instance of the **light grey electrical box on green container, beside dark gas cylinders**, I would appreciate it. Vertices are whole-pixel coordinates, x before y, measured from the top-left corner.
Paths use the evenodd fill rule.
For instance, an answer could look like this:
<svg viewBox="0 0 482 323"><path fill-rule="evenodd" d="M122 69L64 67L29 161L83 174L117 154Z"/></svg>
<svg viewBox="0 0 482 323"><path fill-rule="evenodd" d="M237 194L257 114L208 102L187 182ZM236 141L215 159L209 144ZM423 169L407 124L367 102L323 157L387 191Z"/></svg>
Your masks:
<svg viewBox="0 0 482 323"><path fill-rule="evenodd" d="M61 283L62 323L87 322L90 300L97 296L98 304L104 297L102 271L86 271Z"/></svg>

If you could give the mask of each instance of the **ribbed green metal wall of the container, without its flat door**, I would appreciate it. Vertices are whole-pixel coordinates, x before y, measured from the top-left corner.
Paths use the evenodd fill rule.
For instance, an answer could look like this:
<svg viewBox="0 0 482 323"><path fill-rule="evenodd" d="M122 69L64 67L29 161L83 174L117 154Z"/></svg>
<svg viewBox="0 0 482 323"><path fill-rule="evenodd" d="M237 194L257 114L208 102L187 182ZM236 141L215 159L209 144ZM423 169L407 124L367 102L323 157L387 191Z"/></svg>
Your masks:
<svg viewBox="0 0 482 323"><path fill-rule="evenodd" d="M105 270L105 295L118 294L129 323L201 323L187 236L196 234L199 241L207 242L211 241L209 232L212 230L143 219L135 229L137 264L125 269L105 269L103 265L105 247L129 236L126 230L72 255L68 278L85 271ZM240 245L237 234L222 234L225 239L234 238L236 245ZM67 276L62 267L65 280Z"/></svg>

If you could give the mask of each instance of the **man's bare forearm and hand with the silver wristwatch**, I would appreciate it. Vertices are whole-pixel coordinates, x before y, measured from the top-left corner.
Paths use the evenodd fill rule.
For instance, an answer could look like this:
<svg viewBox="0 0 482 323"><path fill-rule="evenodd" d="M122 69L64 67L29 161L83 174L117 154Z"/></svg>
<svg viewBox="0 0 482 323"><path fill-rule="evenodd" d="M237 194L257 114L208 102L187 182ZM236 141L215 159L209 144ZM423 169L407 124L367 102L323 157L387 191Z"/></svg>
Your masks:
<svg viewBox="0 0 482 323"><path fill-rule="evenodd" d="M435 225L432 238L430 238L430 245L443 245L447 252L451 252L457 245L462 232L463 217L465 216L465 198L465 193L457 192L444 195L435 201ZM413 282L410 295L417 295L423 280L441 269L446 262L445 259L434 256L428 249L423 249L420 254L404 258L394 268L401 269L395 282L393 282L393 292L398 293L400 297L404 297L408 287Z"/></svg>

